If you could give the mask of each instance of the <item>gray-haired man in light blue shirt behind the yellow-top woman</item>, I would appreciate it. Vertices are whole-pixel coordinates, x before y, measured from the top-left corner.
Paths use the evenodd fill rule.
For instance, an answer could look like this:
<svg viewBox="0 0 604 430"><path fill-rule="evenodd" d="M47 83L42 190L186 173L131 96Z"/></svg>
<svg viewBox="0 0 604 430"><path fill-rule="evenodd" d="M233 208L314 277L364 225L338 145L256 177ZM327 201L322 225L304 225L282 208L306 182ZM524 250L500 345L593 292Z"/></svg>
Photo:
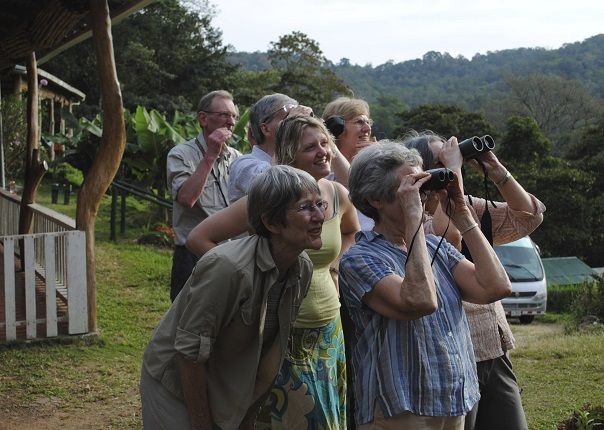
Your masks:
<svg viewBox="0 0 604 430"><path fill-rule="evenodd" d="M230 203L245 196L252 180L271 166L277 128L290 115L309 116L312 115L312 109L280 93L266 95L254 103L250 110L248 131L253 142L252 152L238 158L231 166Z"/></svg>

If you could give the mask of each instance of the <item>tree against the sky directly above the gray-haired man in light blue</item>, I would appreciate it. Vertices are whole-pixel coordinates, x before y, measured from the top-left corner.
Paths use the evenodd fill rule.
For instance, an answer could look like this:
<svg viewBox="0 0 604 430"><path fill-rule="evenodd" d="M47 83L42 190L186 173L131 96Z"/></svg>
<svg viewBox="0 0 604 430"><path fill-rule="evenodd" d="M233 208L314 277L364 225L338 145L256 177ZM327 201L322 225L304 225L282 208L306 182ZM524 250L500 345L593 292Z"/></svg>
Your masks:
<svg viewBox="0 0 604 430"><path fill-rule="evenodd" d="M344 82L327 67L319 44L304 33L294 31L271 42L268 58L280 74L274 91L287 94L316 112L338 95L351 95Z"/></svg>

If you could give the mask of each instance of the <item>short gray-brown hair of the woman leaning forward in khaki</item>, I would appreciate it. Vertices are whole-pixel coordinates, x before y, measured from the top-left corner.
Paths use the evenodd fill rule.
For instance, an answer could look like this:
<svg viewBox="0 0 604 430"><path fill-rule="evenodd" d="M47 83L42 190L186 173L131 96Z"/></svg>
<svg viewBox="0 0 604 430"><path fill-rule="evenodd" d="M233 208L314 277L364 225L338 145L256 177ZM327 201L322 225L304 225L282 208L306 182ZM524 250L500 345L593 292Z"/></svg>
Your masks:
<svg viewBox="0 0 604 430"><path fill-rule="evenodd" d="M247 197L250 226L259 236L271 233L270 225L287 227L287 211L307 193L320 194L317 181L303 170L291 166L272 166L256 176Z"/></svg>

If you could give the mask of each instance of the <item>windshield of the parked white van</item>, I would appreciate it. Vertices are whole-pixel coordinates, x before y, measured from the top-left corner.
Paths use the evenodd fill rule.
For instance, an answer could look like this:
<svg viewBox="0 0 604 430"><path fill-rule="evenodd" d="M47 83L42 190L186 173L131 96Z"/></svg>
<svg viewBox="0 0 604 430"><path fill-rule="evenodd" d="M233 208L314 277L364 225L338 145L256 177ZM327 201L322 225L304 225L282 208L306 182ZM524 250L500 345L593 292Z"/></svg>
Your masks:
<svg viewBox="0 0 604 430"><path fill-rule="evenodd" d="M495 253L512 282L540 281L543 268L532 246L496 246Z"/></svg>

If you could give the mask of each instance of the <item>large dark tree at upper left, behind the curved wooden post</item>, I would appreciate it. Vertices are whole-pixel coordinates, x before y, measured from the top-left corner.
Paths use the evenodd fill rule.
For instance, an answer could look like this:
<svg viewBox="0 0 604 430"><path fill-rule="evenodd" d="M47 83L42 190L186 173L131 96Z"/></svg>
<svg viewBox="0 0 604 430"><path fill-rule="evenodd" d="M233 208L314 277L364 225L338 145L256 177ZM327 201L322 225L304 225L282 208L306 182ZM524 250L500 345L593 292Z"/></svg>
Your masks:
<svg viewBox="0 0 604 430"><path fill-rule="evenodd" d="M116 67L126 108L191 111L204 93L233 90L238 66L226 61L222 34L211 20L206 2L189 11L177 0L160 0L115 26ZM79 111L83 115L99 109L93 52L91 42L84 42L45 66L87 94L89 106Z"/></svg>

